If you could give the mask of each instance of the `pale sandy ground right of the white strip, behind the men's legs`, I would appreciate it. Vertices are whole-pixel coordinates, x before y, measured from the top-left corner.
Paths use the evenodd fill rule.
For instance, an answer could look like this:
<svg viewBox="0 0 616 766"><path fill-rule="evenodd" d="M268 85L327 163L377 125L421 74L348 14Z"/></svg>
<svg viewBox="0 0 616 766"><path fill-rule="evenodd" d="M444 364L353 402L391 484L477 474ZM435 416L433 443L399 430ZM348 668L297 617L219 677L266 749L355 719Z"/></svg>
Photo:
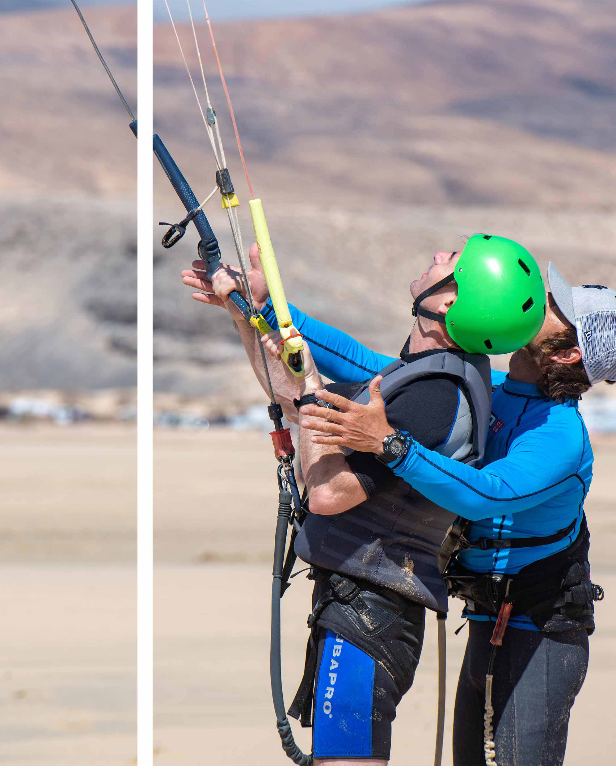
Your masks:
<svg viewBox="0 0 616 766"><path fill-rule="evenodd" d="M269 677L269 591L275 464L267 434L225 430L155 434L155 743L156 764L284 764ZM595 479L586 509L598 604L591 665L569 728L565 763L605 761L616 746L611 719L616 683L613 641L616 568L610 545L616 444L595 444ZM250 488L250 493L249 493ZM283 599L283 679L297 688L307 637L310 584L302 577ZM447 620L447 731L465 632L460 611ZM436 627L428 620L421 663L398 708L392 764L430 766L436 710ZM310 747L307 732L297 739ZM290 761L289 761L290 762ZM523 764L532 766L532 764Z"/></svg>

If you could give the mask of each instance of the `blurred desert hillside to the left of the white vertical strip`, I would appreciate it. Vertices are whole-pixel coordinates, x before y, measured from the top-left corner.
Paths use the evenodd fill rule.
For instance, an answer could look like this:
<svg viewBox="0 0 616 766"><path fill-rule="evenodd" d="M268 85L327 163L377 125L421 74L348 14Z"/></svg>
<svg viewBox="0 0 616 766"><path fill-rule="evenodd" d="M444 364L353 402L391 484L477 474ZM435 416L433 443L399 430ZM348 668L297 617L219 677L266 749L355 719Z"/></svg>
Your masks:
<svg viewBox="0 0 616 766"><path fill-rule="evenodd" d="M84 13L136 108L135 8ZM0 18L0 389L134 387L129 116L70 3Z"/></svg>

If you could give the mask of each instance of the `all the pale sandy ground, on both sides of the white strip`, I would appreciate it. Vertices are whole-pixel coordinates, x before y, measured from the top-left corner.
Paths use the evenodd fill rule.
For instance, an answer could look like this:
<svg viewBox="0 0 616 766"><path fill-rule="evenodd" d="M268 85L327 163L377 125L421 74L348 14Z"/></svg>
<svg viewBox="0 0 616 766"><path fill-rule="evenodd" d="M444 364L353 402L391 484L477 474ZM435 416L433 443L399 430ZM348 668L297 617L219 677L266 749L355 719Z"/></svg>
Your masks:
<svg viewBox="0 0 616 766"><path fill-rule="evenodd" d="M156 764L284 764L274 728L268 633L275 464L267 434L156 431ZM596 444L587 501L598 605L588 679L566 763L616 745L610 607L615 444ZM135 762L134 431L0 427L0 762ZM249 491L250 489L250 491ZM283 600L287 700L300 678L310 584ZM464 633L448 630L447 738ZM431 764L436 630L398 709L392 764ZM307 732L298 740L309 747ZM446 751L444 764L451 766Z"/></svg>

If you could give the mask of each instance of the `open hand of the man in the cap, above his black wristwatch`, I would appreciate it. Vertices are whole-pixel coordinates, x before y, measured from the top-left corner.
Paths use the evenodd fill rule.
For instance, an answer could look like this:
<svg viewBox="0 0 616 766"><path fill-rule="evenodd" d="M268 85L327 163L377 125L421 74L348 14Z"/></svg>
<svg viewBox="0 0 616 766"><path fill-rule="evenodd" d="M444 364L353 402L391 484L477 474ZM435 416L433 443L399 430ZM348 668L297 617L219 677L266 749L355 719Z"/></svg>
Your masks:
<svg viewBox="0 0 616 766"><path fill-rule="evenodd" d="M329 391L316 391L316 398L333 404L339 412L306 404L300 409L300 426L323 434L310 437L315 444L341 445L358 452L380 455L383 439L395 430L387 422L385 402L381 396L382 379L382 375L377 375L370 381L368 404L357 404Z"/></svg>

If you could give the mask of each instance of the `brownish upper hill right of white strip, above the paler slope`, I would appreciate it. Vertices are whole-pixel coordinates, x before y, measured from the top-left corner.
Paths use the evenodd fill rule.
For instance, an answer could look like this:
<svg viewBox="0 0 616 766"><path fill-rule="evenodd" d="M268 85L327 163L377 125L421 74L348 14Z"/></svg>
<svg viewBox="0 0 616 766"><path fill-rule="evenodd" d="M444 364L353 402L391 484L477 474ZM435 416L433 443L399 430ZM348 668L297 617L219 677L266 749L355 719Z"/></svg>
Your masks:
<svg viewBox="0 0 616 766"><path fill-rule="evenodd" d="M207 28L194 12L231 144ZM608 0L450 0L219 24L216 34L247 159L268 199L611 205L616 18ZM180 36L198 75L188 25ZM156 128L188 167L207 168L169 25L156 26L154 77Z"/></svg>

